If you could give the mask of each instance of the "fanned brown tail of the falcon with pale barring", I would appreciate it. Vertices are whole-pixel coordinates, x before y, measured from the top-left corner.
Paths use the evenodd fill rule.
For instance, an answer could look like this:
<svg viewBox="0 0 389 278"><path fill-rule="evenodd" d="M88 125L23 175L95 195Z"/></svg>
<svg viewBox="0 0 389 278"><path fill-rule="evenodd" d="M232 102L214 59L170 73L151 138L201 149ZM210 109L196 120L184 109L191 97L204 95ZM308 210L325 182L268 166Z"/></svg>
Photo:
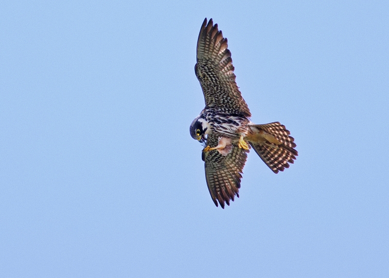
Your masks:
<svg viewBox="0 0 389 278"><path fill-rule="evenodd" d="M278 173L293 164L298 152L289 130L279 122L250 126L248 141L265 164Z"/></svg>

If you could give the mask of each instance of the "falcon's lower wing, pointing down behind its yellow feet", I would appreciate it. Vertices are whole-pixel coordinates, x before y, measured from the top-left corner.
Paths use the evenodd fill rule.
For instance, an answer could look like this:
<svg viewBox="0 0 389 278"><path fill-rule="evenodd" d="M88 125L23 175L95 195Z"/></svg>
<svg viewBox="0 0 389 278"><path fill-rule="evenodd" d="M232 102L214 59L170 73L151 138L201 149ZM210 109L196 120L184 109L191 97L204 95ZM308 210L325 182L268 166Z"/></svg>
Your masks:
<svg viewBox="0 0 389 278"><path fill-rule="evenodd" d="M207 144L216 147L217 135L208 135ZM240 181L243 167L245 167L247 152L243 148L233 144L231 152L224 156L217 150L203 152L205 160L205 178L213 203L217 202L224 208L224 204L230 205L235 195L239 197Z"/></svg>

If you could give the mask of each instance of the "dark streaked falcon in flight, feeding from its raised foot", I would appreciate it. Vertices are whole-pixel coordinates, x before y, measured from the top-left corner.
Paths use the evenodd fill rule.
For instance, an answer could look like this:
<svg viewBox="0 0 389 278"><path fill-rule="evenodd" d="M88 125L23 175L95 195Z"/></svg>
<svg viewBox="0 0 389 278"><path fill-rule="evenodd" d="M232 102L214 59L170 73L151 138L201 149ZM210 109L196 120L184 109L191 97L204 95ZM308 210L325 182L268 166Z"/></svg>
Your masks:
<svg viewBox="0 0 389 278"><path fill-rule="evenodd" d="M205 178L213 203L224 208L239 197L250 146L274 172L289 167L298 155L294 138L279 122L256 125L235 82L227 38L207 19L197 40L195 74L205 108L191 126L191 136L203 144Z"/></svg>

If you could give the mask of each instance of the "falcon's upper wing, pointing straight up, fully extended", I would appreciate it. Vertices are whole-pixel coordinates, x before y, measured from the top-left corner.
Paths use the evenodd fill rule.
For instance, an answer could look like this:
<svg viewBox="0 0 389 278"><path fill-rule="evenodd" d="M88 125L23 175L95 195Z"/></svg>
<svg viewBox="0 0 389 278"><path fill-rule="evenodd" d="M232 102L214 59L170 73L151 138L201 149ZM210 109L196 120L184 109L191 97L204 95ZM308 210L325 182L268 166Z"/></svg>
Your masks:
<svg viewBox="0 0 389 278"><path fill-rule="evenodd" d="M195 73L203 89L205 106L226 113L250 117L250 111L235 82L227 38L218 31L212 19L204 19L197 40Z"/></svg>

